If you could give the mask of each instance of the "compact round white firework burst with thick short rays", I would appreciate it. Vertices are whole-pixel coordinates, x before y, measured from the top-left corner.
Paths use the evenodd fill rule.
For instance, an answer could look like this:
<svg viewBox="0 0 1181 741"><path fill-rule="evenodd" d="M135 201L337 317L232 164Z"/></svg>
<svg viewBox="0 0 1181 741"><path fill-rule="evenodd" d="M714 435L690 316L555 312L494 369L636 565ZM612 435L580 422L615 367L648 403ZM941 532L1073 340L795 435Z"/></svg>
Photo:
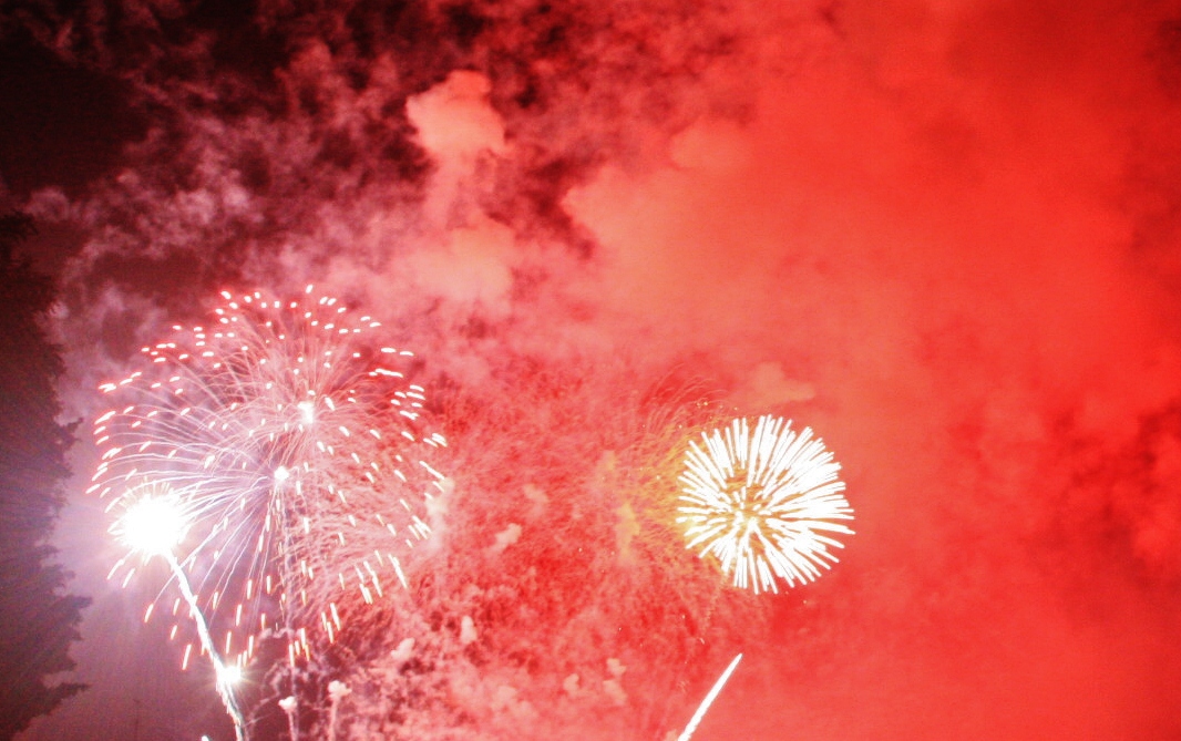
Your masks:
<svg viewBox="0 0 1181 741"><path fill-rule="evenodd" d="M712 555L733 584L756 592L810 582L837 560L842 545L826 533L853 535L834 520L853 519L837 479L840 464L805 427L761 417L751 434L745 419L690 444L680 516L689 547Z"/></svg>

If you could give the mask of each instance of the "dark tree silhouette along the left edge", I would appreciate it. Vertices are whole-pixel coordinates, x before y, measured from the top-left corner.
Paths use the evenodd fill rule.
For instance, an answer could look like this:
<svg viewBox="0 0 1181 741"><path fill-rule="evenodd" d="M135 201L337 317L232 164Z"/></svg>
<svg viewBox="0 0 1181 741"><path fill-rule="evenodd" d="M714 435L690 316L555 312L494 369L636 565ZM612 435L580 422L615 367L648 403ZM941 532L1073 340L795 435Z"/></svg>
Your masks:
<svg viewBox="0 0 1181 741"><path fill-rule="evenodd" d="M57 422L61 358L39 323L53 284L14 254L33 234L25 214L0 215L0 741L85 688L52 681L73 668L89 599L64 594L70 575L47 544L73 438Z"/></svg>

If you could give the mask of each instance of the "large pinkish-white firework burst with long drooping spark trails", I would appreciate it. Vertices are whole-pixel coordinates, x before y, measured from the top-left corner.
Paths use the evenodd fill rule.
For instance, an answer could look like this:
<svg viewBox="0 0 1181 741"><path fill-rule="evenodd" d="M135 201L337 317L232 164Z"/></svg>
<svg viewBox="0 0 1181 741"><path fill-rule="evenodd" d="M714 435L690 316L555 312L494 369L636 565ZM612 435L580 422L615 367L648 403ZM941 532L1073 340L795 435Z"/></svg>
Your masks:
<svg viewBox="0 0 1181 741"><path fill-rule="evenodd" d="M128 512L167 485L188 527L177 563L227 663L282 635L294 664L351 605L405 585L402 559L442 491L422 455L445 440L420 429L423 389L390 367L411 354L376 347L377 321L312 287L289 302L222 295L211 327L174 327L143 348L148 368L102 387L128 401L96 421L90 491ZM126 584L129 558L119 572Z"/></svg>

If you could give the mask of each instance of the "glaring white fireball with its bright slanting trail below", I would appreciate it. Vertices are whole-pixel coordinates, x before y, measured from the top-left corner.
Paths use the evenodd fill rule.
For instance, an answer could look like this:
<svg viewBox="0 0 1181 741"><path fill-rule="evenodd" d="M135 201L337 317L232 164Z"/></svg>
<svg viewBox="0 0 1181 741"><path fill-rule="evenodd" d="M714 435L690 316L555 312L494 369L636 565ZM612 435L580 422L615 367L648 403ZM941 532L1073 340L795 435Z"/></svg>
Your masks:
<svg viewBox="0 0 1181 741"><path fill-rule="evenodd" d="M241 669L227 667L222 660L213 635L209 632L205 616L197 603L197 596L174 552L189 529L180 503L167 486L145 484L133 494L123 497L122 504L125 510L111 529L112 533L128 547L138 551L144 557L159 556L168 563L172 577L181 589L181 595L189 605L189 615L197 625L201 645L214 665L217 694L221 696L222 704L226 706L226 713L234 722L234 736L237 741L244 741L246 716L242 714L237 695L234 691L234 684L241 677Z"/></svg>

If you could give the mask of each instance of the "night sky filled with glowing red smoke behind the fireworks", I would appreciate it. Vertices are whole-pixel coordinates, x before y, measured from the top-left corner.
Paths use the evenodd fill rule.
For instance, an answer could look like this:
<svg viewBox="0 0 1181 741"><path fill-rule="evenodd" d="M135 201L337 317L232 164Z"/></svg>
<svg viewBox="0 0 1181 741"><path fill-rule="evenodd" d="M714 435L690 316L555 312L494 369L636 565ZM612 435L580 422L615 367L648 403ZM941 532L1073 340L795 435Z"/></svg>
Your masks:
<svg viewBox="0 0 1181 741"><path fill-rule="evenodd" d="M11 209L64 420L223 289L415 350L455 490L373 618L446 657L405 737L663 741L739 650L697 741L1181 737L1176 2L11 0ZM830 573L684 551L651 472L703 406L835 452ZM106 582L87 428L91 689L21 737L231 737L162 579ZM391 669L338 671L355 719Z"/></svg>

